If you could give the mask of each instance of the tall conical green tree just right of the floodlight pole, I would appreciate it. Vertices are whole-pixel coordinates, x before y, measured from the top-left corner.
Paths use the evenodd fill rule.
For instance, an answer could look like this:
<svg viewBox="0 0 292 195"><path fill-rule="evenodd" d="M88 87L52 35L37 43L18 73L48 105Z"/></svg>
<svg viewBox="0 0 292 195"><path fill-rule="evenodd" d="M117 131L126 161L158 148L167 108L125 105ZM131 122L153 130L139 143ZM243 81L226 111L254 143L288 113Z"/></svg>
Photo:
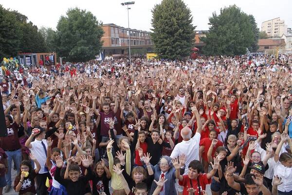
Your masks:
<svg viewBox="0 0 292 195"><path fill-rule="evenodd" d="M182 59L191 53L195 27L183 0L162 0L152 9L150 34L154 52L163 59Z"/></svg>

